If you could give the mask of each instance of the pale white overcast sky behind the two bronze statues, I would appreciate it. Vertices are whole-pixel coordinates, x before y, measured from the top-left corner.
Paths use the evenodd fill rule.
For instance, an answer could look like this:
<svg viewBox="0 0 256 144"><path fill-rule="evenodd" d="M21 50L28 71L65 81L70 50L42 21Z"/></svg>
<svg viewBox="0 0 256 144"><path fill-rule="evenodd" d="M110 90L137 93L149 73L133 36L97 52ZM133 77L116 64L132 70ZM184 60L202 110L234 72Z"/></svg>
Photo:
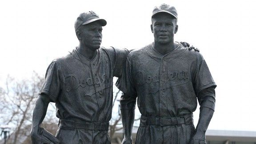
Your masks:
<svg viewBox="0 0 256 144"><path fill-rule="evenodd" d="M2 0L0 84L8 74L44 75L52 60L75 48L74 22L81 12L92 10L107 20L102 46L152 43L152 9L163 3L178 12L175 40L200 49L217 84L208 129L256 131L254 0Z"/></svg>

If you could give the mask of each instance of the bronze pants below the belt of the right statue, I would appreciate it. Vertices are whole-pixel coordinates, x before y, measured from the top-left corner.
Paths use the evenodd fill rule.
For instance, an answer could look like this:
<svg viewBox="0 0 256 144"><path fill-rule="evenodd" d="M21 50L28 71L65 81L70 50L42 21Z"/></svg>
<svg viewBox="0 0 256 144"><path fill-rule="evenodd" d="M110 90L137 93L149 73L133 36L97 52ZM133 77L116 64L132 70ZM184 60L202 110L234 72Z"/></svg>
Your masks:
<svg viewBox="0 0 256 144"><path fill-rule="evenodd" d="M188 144L196 133L194 124L140 126L135 144Z"/></svg>

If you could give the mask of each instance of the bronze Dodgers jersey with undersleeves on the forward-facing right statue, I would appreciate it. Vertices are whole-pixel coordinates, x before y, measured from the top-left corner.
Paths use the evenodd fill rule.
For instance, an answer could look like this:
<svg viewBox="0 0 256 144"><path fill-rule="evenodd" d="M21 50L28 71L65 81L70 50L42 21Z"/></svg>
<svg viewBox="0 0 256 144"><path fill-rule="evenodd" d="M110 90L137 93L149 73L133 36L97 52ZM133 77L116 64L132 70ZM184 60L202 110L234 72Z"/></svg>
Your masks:
<svg viewBox="0 0 256 144"><path fill-rule="evenodd" d="M116 86L125 93L120 108L135 108L137 98L142 116L174 117L194 112L202 99L198 93L216 84L199 52L179 44L162 55L149 44L130 52ZM201 106L214 110L215 97Z"/></svg>

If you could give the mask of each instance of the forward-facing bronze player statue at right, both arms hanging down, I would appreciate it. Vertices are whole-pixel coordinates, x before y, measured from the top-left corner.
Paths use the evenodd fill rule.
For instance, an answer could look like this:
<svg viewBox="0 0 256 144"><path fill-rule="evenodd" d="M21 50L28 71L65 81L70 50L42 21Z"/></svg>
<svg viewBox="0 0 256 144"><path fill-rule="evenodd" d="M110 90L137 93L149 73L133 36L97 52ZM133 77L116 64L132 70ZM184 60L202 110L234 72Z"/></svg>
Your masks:
<svg viewBox="0 0 256 144"><path fill-rule="evenodd" d="M129 53L116 86L120 99L123 144L131 134L137 99L141 113L136 144L205 144L215 108L216 84L203 56L174 41L177 12L162 4L153 9L154 42ZM200 104L196 128L192 113Z"/></svg>

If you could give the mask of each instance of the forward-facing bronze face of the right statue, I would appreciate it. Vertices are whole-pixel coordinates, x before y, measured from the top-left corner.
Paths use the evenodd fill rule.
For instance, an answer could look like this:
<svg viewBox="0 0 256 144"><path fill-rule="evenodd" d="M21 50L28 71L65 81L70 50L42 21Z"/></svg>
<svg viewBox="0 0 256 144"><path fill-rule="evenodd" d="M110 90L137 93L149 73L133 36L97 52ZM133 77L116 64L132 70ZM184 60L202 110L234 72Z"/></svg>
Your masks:
<svg viewBox="0 0 256 144"><path fill-rule="evenodd" d="M161 12L152 18L151 31L156 43L169 44L177 30L176 19L170 14Z"/></svg>

